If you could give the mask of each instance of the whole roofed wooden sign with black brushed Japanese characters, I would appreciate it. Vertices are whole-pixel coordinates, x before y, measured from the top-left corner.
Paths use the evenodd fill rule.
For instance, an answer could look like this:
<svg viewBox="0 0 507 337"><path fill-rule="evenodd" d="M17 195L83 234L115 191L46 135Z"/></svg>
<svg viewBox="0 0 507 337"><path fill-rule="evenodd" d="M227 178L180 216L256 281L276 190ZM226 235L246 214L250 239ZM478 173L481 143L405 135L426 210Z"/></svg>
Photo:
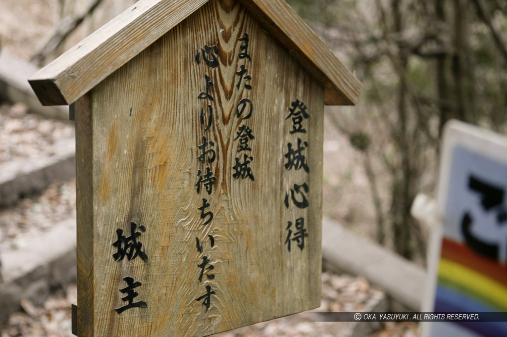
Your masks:
<svg viewBox="0 0 507 337"><path fill-rule="evenodd" d="M78 335L203 336L318 307L324 102L360 84L282 0L146 0L115 20L30 80L47 104L77 99Z"/></svg>

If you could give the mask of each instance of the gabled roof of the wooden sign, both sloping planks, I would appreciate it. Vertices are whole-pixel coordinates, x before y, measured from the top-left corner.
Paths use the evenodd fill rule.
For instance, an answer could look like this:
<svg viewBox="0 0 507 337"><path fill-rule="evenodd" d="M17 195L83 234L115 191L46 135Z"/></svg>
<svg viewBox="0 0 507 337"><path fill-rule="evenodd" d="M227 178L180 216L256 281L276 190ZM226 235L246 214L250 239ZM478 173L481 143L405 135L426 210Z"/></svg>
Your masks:
<svg viewBox="0 0 507 337"><path fill-rule="evenodd" d="M209 0L140 0L28 80L43 105L65 105L99 84ZM284 0L240 0L324 85L326 105L354 105L361 83Z"/></svg>

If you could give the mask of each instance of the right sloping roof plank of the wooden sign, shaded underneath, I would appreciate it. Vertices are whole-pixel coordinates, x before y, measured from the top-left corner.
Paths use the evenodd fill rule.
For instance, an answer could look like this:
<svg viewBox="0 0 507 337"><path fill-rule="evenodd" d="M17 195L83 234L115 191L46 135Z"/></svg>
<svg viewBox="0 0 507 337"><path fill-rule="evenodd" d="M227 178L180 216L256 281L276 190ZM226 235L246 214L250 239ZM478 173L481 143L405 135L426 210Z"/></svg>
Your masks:
<svg viewBox="0 0 507 337"><path fill-rule="evenodd" d="M357 103L363 85L284 0L242 2L324 84L326 105Z"/></svg>

